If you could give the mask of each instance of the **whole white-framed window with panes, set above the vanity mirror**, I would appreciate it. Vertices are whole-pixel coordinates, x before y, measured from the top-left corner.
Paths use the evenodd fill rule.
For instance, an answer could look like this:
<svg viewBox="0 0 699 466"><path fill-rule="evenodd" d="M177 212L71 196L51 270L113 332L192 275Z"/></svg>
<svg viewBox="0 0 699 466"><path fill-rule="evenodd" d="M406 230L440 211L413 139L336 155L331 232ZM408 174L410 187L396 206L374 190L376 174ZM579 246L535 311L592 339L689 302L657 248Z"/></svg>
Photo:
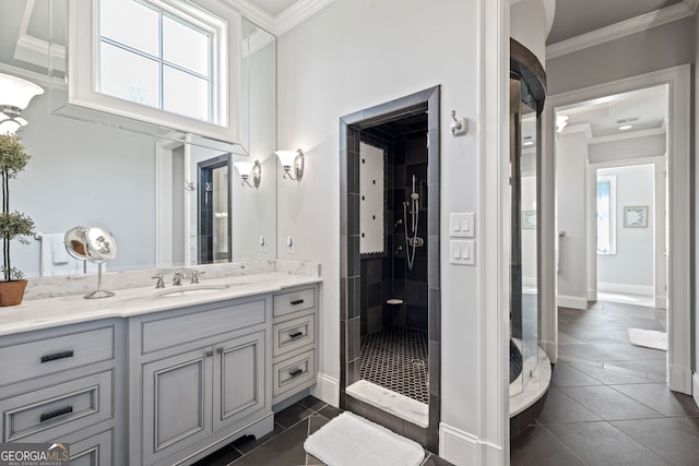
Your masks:
<svg viewBox="0 0 699 466"><path fill-rule="evenodd" d="M237 142L240 15L218 0L69 3L69 101Z"/></svg>

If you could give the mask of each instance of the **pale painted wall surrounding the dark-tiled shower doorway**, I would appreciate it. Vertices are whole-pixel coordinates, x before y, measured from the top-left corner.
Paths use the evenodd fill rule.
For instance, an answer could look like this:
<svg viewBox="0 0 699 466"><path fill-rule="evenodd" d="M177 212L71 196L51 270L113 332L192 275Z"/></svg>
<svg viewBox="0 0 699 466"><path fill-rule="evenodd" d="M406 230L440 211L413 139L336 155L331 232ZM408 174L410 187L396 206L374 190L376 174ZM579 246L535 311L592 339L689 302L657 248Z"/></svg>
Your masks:
<svg viewBox="0 0 699 466"><path fill-rule="evenodd" d="M449 212L478 212L478 128L453 138L452 109L477 121L478 3L445 0L336 0L279 39L279 143L306 152L300 182L280 181L280 259L322 264L320 371L340 377L339 118L441 85L441 231ZM283 239L296 238L295 254ZM441 236L442 422L478 437L475 267L448 260ZM496 312L495 309L488 310ZM497 445L496 445L497 446ZM501 446L501 445L500 445Z"/></svg>

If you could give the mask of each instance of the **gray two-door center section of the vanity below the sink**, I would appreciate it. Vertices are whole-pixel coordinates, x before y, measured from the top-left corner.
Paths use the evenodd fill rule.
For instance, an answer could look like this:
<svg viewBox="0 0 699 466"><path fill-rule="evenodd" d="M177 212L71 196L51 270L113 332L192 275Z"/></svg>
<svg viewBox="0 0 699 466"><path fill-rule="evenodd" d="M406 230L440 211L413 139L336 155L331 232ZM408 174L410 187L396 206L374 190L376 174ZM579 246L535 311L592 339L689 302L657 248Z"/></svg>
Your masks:
<svg viewBox="0 0 699 466"><path fill-rule="evenodd" d="M130 320L130 464L189 463L228 437L272 430L270 321L265 297Z"/></svg>

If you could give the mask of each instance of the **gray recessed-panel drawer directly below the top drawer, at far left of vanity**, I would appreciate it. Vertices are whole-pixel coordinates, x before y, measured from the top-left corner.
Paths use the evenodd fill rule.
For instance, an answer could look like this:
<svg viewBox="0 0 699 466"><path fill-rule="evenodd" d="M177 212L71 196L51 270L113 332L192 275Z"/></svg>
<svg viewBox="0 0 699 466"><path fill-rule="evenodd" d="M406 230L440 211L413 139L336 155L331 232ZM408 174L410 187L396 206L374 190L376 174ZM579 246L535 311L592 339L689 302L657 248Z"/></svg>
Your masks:
<svg viewBox="0 0 699 466"><path fill-rule="evenodd" d="M0 401L2 441L48 442L112 418L106 371Z"/></svg>

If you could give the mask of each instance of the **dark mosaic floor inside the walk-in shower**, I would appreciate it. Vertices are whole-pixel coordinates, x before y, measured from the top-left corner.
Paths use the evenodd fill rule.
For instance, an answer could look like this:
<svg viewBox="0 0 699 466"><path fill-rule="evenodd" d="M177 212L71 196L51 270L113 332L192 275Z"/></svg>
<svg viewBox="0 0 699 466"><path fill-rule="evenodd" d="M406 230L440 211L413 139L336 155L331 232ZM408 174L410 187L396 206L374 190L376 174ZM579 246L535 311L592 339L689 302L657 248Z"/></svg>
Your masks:
<svg viewBox="0 0 699 466"><path fill-rule="evenodd" d="M427 369L426 332L392 326L362 337L363 380L427 404Z"/></svg>

